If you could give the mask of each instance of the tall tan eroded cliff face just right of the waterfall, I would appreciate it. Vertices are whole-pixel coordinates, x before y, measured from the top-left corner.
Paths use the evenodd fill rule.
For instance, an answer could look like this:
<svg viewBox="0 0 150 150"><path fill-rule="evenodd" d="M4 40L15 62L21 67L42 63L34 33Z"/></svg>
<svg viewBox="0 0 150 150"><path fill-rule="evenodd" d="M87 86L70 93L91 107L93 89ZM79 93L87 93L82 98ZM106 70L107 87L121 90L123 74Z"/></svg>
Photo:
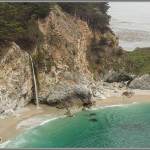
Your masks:
<svg viewBox="0 0 150 150"><path fill-rule="evenodd" d="M76 96L87 100L93 83L86 59L92 37L88 25L56 6L45 20L39 21L39 27L45 35L44 57L53 61L48 73L46 63L44 71L39 72L40 100L52 103Z"/></svg>

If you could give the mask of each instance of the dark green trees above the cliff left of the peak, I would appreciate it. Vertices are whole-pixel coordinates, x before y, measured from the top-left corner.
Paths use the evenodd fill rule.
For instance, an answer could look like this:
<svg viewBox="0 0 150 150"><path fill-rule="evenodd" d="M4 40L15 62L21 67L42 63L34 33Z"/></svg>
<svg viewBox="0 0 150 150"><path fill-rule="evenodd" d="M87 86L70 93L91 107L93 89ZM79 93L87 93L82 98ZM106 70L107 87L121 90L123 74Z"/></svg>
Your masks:
<svg viewBox="0 0 150 150"><path fill-rule="evenodd" d="M0 42L32 45L41 40L37 19L44 18L49 3L0 3Z"/></svg>

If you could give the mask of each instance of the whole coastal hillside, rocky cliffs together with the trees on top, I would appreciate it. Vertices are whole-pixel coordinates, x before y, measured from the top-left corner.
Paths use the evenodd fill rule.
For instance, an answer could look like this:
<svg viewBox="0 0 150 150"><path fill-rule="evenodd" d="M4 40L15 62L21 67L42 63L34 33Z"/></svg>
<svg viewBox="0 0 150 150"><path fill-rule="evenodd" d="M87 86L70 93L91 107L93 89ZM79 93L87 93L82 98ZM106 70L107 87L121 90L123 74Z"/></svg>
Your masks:
<svg viewBox="0 0 150 150"><path fill-rule="evenodd" d="M133 72L127 59L138 53L132 56L118 46L109 27L108 3L1 3L0 7L3 12L8 9L1 12L1 115L31 102L90 107L104 97L101 80L108 72ZM148 59L146 53L144 57Z"/></svg>

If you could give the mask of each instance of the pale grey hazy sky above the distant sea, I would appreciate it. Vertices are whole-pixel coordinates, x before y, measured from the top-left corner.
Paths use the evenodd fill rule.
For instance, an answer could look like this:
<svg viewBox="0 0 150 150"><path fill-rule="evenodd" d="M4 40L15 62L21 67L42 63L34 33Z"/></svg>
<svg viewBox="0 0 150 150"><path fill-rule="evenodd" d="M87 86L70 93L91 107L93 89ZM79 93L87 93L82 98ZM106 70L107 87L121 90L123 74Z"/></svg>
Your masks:
<svg viewBox="0 0 150 150"><path fill-rule="evenodd" d="M150 25L150 2L110 2L109 5L112 19Z"/></svg>

